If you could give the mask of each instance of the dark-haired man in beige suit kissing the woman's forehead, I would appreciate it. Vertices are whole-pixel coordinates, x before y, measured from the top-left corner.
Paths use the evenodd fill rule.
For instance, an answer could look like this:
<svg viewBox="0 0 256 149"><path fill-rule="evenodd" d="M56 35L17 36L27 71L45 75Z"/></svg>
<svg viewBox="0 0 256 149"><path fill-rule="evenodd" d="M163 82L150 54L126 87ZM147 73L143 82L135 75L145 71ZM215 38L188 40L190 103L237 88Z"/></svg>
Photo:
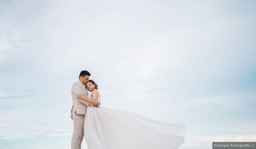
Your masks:
<svg viewBox="0 0 256 149"><path fill-rule="evenodd" d="M83 70L79 75L79 80L73 83L71 89L72 95L72 109L71 109L71 119L74 121L74 131L71 139L71 148L72 149L81 149L81 143L84 138L84 115L87 106L99 107L98 103L92 105L84 100L78 100L77 94L82 94L85 97L88 95L87 90L84 85L89 82L91 74Z"/></svg>

